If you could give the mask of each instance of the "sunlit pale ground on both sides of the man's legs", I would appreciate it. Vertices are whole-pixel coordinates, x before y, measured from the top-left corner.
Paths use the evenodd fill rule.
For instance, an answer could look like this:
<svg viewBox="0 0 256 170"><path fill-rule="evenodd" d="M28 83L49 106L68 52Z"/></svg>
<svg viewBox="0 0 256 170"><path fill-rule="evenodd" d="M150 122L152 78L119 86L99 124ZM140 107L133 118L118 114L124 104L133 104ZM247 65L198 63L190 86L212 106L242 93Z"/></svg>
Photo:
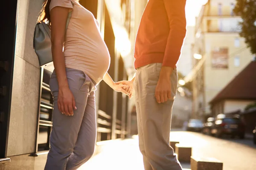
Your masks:
<svg viewBox="0 0 256 170"><path fill-rule="evenodd" d="M256 170L256 145L252 139L218 139L201 133L172 131L171 140L191 146L193 156L222 161L223 170ZM104 146L101 153L79 170L143 170L137 136L111 141ZM189 165L183 164L183 168Z"/></svg>

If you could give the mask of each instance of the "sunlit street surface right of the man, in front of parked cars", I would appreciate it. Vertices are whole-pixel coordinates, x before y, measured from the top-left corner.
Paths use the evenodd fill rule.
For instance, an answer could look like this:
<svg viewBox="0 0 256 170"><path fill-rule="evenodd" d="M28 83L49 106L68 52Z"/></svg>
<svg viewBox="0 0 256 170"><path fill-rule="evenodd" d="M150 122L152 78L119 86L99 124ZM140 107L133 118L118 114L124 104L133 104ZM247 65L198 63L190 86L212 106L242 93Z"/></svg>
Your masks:
<svg viewBox="0 0 256 170"><path fill-rule="evenodd" d="M223 162L223 170L256 170L256 145L252 139L218 139L195 132L171 132L171 140L192 147L192 155Z"/></svg>

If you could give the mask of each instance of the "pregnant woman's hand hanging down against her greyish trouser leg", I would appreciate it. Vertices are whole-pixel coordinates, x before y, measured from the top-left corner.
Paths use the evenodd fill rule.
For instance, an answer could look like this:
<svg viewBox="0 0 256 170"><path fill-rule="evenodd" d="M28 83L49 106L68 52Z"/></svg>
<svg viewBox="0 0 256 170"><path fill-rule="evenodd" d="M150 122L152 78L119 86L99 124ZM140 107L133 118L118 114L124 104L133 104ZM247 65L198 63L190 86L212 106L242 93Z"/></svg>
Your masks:
<svg viewBox="0 0 256 170"><path fill-rule="evenodd" d="M76 109L75 98L68 87L59 89L58 92L58 109L62 114L73 116L73 109Z"/></svg>

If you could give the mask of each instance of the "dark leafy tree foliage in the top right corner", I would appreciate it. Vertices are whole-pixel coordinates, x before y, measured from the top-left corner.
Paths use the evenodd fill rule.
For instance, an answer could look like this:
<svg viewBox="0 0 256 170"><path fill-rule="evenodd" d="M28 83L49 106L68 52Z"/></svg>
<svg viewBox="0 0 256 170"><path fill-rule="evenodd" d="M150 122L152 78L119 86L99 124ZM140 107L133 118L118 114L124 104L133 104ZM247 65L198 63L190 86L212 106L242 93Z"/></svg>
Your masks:
<svg viewBox="0 0 256 170"><path fill-rule="evenodd" d="M251 53L256 54L256 0L236 0L234 13L242 18L240 36Z"/></svg>

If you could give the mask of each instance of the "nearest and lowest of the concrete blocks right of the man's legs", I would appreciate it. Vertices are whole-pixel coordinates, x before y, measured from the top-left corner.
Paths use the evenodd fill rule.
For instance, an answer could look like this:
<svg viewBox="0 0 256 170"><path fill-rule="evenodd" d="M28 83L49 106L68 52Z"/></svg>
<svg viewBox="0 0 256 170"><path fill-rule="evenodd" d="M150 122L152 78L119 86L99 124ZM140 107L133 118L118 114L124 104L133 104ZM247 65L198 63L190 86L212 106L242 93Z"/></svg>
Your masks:
<svg viewBox="0 0 256 170"><path fill-rule="evenodd" d="M198 158L191 156L191 170L222 170L223 163L215 158Z"/></svg>

